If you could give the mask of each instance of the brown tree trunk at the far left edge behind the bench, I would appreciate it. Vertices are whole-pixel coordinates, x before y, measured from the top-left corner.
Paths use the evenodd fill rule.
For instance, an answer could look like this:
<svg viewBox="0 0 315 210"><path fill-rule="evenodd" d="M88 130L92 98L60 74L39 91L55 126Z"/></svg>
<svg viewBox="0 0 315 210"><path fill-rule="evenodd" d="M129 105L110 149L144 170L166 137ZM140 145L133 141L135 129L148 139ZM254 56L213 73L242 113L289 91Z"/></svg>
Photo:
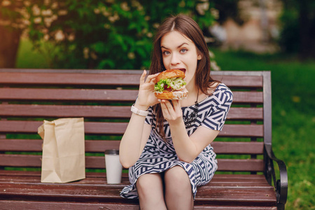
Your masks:
<svg viewBox="0 0 315 210"><path fill-rule="evenodd" d="M20 43L20 29L0 25L0 68L14 68Z"/></svg>

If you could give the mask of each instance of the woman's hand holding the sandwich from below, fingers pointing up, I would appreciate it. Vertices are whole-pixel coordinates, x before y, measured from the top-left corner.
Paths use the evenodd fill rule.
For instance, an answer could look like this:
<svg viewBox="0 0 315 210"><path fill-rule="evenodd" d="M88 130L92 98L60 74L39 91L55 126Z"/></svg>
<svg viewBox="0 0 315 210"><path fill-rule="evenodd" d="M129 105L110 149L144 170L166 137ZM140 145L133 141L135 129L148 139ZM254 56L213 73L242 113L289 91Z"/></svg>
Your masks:
<svg viewBox="0 0 315 210"><path fill-rule="evenodd" d="M173 100L171 103L169 100L162 99L161 108L165 120L169 123L183 120L183 112L181 111L181 102L179 100Z"/></svg>

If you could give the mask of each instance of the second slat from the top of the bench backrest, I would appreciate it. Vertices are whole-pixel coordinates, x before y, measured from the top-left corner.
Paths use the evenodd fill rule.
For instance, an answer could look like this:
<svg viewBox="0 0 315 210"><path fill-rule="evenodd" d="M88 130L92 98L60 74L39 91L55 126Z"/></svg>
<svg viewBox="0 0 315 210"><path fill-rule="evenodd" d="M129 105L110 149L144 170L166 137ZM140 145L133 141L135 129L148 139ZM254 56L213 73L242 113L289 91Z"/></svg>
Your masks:
<svg viewBox="0 0 315 210"><path fill-rule="evenodd" d="M0 88L0 100L62 102L134 102L138 90ZM233 91L233 103L263 102L262 92Z"/></svg>

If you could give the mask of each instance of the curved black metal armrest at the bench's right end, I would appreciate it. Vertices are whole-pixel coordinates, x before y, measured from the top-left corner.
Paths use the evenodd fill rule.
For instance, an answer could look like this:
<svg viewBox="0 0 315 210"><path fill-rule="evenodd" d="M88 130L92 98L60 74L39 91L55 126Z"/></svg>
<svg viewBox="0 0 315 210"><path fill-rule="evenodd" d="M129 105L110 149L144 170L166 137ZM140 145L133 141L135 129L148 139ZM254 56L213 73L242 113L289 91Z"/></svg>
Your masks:
<svg viewBox="0 0 315 210"><path fill-rule="evenodd" d="M282 160L275 157L272 151L272 145L265 143L265 176L268 183L271 185L274 181L274 188L276 190L276 202L278 209L284 209L286 200L288 197L288 173L286 171L286 165ZM276 173L274 170L274 163L279 167L279 178L276 180Z"/></svg>

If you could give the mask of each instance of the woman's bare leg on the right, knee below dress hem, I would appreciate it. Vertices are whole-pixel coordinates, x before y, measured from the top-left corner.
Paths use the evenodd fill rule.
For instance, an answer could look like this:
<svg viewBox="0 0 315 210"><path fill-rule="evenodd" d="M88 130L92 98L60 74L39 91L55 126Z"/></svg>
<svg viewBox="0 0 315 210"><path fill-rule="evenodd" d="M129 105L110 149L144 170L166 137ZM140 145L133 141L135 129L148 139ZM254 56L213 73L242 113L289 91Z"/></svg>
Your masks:
<svg viewBox="0 0 315 210"><path fill-rule="evenodd" d="M167 209L193 209L193 192L185 170L180 166L172 167L165 172L164 178Z"/></svg>

